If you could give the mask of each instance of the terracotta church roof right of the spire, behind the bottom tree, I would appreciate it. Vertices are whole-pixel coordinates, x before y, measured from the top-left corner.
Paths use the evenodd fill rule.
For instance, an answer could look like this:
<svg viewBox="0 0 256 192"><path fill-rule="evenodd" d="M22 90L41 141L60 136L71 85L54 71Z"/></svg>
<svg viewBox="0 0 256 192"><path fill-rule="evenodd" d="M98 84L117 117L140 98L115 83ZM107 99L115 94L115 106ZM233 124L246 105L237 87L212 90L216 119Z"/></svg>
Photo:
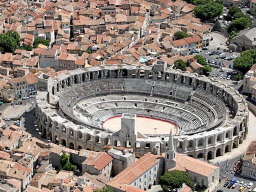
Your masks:
<svg viewBox="0 0 256 192"><path fill-rule="evenodd" d="M176 154L176 166L170 168L169 170L183 170L192 171L204 176L209 176L214 169L219 169L219 167L209 164L207 162L186 156L184 154Z"/></svg>

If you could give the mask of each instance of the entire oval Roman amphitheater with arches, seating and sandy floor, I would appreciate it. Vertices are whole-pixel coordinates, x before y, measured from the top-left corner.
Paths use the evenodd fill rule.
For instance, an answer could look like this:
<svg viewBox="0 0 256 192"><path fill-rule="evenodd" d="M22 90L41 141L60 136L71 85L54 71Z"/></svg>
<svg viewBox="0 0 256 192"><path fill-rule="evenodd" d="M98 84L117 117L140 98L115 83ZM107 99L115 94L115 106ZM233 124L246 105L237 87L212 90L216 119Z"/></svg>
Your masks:
<svg viewBox="0 0 256 192"><path fill-rule="evenodd" d="M41 74L38 84L38 128L72 149L115 145L137 157L159 154L172 131L177 152L212 159L246 139L248 107L236 90L162 62Z"/></svg>

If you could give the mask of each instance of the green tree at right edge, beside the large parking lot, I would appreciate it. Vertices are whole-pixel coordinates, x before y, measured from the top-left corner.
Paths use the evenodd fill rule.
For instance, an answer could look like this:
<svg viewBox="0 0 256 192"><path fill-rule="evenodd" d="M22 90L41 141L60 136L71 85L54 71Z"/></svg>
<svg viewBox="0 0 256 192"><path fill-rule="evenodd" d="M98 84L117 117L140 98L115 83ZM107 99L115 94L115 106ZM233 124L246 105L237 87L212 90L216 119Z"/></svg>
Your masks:
<svg viewBox="0 0 256 192"><path fill-rule="evenodd" d="M241 52L233 61L233 68L245 74L256 62L256 49L248 49Z"/></svg>

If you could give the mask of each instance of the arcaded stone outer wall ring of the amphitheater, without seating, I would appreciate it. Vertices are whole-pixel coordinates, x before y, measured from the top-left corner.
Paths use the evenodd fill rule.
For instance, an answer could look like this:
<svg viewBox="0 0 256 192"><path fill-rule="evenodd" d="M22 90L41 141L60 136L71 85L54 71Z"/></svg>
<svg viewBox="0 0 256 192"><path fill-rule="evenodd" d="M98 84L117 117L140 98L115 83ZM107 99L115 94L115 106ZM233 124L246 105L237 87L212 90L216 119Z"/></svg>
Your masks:
<svg viewBox="0 0 256 192"><path fill-rule="evenodd" d="M85 127L61 117L58 113L59 95L66 87L74 83L100 78L122 77L157 78L159 80L183 83L192 87L198 87L212 92L226 103L226 106L234 112L224 126L209 131L192 135L175 135L174 144L177 152L186 153L189 156L204 159L212 159L223 155L232 148L238 147L248 132L248 107L244 98L231 87L213 78L208 78L197 73L180 71L158 66L136 65L104 65L87 67L68 71L53 78L39 78L39 91L36 96L36 123L39 130L47 139L74 149L90 149L102 151L103 146L125 146L125 141L130 141L130 147L141 156L146 152L165 152L168 136L146 137L143 139L120 138L116 133L109 133L93 127ZM160 76L160 77L159 77ZM168 76L168 78L166 78ZM138 144L139 142L139 144ZM139 146L139 147L136 147Z"/></svg>

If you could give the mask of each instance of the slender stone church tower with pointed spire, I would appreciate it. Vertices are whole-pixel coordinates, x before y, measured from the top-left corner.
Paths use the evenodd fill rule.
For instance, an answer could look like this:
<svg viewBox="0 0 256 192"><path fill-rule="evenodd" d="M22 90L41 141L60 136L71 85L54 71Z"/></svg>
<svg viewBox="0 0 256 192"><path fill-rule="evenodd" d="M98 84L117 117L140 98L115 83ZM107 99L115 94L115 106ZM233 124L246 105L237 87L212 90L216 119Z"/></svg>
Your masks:
<svg viewBox="0 0 256 192"><path fill-rule="evenodd" d="M170 136L168 140L168 146L165 149L165 171L169 168L173 168L176 166L175 154L176 149L173 144L173 136L170 130Z"/></svg>

